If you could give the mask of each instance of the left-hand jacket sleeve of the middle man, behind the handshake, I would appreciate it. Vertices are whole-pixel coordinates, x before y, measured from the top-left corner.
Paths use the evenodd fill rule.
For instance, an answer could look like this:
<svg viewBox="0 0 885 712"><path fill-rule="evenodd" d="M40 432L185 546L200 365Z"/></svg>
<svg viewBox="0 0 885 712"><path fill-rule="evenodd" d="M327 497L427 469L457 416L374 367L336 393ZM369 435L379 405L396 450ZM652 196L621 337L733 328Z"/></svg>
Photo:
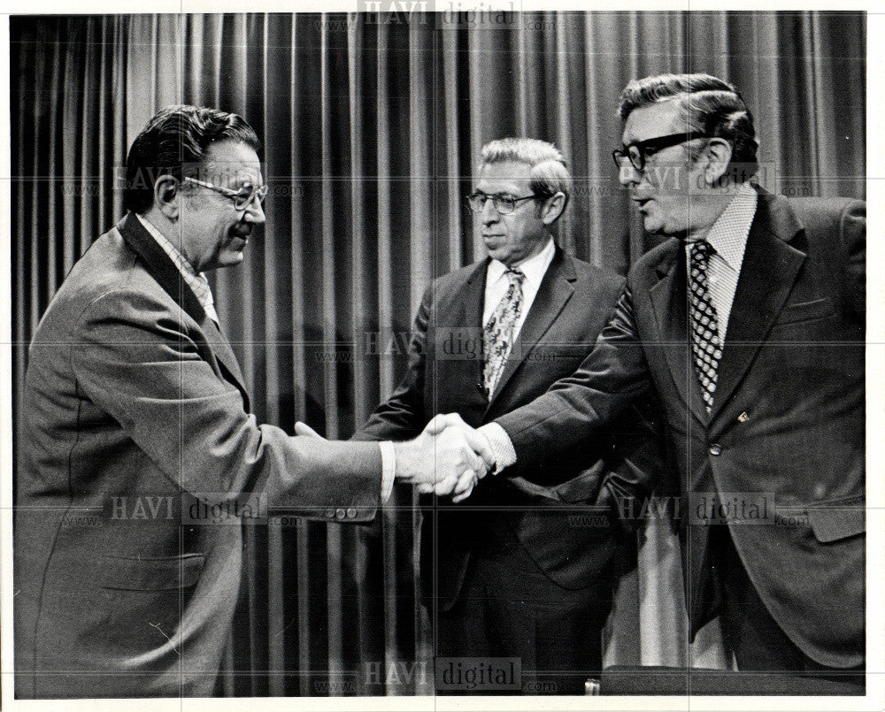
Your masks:
<svg viewBox="0 0 885 712"><path fill-rule="evenodd" d="M352 440L411 440L429 418L424 409L424 369L427 362L427 323L432 308L432 287L427 287L409 341L405 376L390 397L373 412Z"/></svg>

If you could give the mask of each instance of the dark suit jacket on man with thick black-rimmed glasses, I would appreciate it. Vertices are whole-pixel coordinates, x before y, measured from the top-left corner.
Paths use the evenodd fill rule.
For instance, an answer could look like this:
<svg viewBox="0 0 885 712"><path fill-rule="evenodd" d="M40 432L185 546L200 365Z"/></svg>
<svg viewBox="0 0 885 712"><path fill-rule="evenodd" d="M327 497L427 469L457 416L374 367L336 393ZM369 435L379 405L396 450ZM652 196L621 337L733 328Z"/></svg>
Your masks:
<svg viewBox="0 0 885 712"><path fill-rule="evenodd" d="M653 388L678 473L693 630L712 615L704 495L775 620L806 655L864 657L865 204L759 191L712 414L693 369L681 241L627 276L612 322L569 379L498 422L533 467ZM763 524L750 505L766 505ZM734 510L733 510L734 512ZM767 525L766 525L767 524Z"/></svg>

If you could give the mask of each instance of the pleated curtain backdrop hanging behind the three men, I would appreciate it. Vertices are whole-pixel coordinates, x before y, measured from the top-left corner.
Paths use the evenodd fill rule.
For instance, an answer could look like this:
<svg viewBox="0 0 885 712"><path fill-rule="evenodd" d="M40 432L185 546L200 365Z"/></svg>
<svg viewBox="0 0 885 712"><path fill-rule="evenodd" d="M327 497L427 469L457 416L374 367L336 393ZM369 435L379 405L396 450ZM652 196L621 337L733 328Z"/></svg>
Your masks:
<svg viewBox="0 0 885 712"><path fill-rule="evenodd" d="M766 188L864 197L865 56L866 20L845 12L13 17L14 393L59 283L122 215L129 143L166 104L236 111L264 142L266 226L211 277L258 420L346 438L402 375L429 281L484 256L463 201L483 143L563 149L576 190L558 240L623 273L649 246L610 156L628 80L731 80ZM225 693L432 691L419 515L412 494L394 505L371 527L246 527Z"/></svg>

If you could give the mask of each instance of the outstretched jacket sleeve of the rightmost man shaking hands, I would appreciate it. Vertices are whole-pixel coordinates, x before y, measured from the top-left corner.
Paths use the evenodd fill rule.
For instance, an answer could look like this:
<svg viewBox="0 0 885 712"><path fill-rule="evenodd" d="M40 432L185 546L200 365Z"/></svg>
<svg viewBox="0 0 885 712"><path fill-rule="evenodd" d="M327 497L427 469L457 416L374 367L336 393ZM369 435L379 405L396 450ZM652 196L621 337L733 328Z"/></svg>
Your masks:
<svg viewBox="0 0 885 712"><path fill-rule="evenodd" d="M628 281L611 320L578 370L496 422L510 437L517 463L538 467L600 433L649 390Z"/></svg>

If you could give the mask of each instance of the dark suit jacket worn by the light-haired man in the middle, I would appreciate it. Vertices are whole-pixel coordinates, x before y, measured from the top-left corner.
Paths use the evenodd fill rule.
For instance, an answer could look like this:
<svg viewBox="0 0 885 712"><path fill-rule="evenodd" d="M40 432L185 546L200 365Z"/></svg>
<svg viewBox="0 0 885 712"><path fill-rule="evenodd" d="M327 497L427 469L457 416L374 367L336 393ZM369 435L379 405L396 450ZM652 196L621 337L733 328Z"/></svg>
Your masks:
<svg viewBox="0 0 885 712"><path fill-rule="evenodd" d="M488 423L530 402L574 371L612 314L623 279L557 249L492 394L482 392L482 308L488 260L451 272L427 289L412 333L405 378L354 436L403 440L437 413ZM618 434L617 441L612 433ZM622 459L626 458L626 459ZM461 504L424 498L421 580L440 609L457 599L474 547L510 529L559 586L582 588L611 561L614 527L577 523L589 507L612 514L617 496L643 496L658 475L658 444L638 413L531 468L483 478ZM493 520L496 520L493 522ZM434 534L436 533L436 538ZM432 572L435 570L435 577ZM434 578L436 590L434 590Z"/></svg>

